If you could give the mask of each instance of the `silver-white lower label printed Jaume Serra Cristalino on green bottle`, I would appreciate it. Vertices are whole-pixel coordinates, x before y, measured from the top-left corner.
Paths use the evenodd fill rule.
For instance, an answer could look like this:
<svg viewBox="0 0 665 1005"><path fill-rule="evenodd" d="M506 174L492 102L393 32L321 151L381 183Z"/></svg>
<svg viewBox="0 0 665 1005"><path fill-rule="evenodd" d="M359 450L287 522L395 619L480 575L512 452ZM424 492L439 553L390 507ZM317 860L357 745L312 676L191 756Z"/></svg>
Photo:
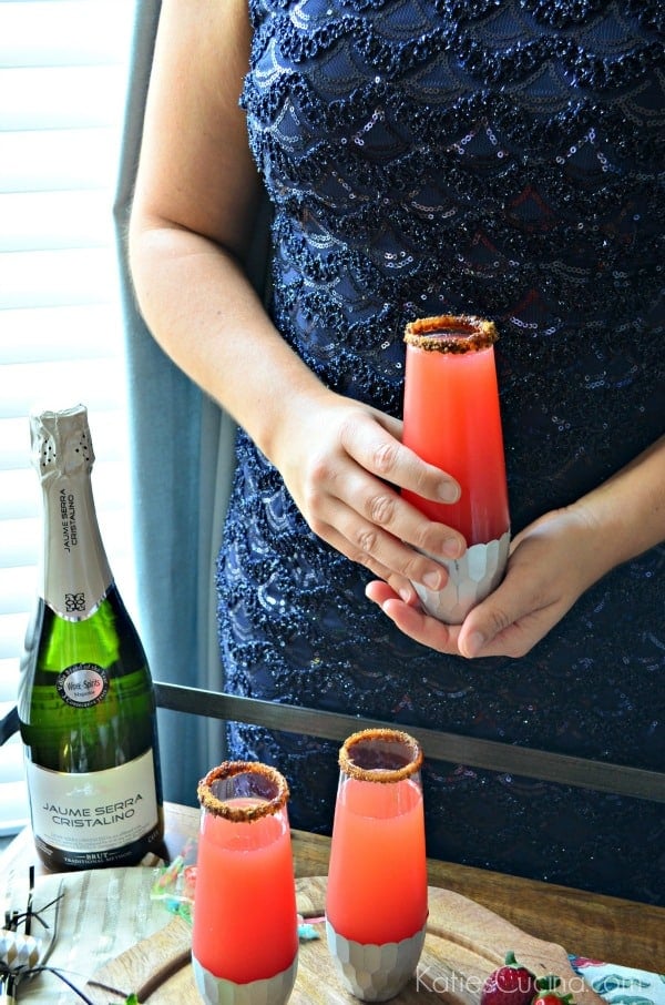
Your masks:
<svg viewBox="0 0 665 1005"><path fill-rule="evenodd" d="M25 763L35 836L63 851L104 852L157 823L153 752L106 771L69 774Z"/></svg>

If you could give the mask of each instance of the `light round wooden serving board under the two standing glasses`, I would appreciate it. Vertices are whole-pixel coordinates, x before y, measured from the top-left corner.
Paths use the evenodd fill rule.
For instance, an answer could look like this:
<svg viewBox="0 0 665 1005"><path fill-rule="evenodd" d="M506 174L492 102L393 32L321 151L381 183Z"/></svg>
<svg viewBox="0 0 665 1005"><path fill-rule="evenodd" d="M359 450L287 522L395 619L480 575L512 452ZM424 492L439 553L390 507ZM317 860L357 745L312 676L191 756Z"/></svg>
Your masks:
<svg viewBox="0 0 665 1005"><path fill-rule="evenodd" d="M296 880L298 911L305 918L324 913L326 877ZM325 924L320 938L301 941L298 976L289 1005L346 1005L357 998L340 985L328 954ZM200 1001L190 964L191 928L175 917L163 930L122 953L95 972L85 987L94 1005L123 1005L135 992L141 1005L183 1005ZM566 952L522 932L480 904L449 890L429 887L424 948L410 984L396 1005L478 1005L484 978L512 950L534 974L556 974L562 993L576 1005L603 1005L571 968ZM427 997L423 998L423 995Z"/></svg>

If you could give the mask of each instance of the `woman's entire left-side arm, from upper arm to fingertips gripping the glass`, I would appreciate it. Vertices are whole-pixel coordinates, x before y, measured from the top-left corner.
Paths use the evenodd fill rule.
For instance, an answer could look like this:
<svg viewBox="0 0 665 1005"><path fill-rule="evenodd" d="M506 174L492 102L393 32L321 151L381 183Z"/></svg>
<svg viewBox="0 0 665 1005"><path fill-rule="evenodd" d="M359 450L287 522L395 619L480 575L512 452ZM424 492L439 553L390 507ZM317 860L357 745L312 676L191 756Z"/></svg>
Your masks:
<svg viewBox="0 0 665 1005"><path fill-rule="evenodd" d="M328 389L242 267L260 192L241 109L250 41L246 0L163 0L130 220L141 312L280 471L315 534L382 579L437 589L446 572L428 556L457 557L463 540L395 486L452 501L457 483L401 445L397 419Z"/></svg>

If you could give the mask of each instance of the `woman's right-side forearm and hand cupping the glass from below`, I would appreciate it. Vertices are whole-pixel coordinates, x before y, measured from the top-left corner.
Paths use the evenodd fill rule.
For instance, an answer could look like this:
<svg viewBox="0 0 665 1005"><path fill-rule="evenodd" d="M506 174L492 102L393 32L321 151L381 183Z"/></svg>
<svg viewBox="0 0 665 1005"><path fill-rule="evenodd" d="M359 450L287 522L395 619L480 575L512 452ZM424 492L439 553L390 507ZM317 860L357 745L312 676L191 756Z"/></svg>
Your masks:
<svg viewBox="0 0 665 1005"><path fill-rule="evenodd" d="M665 437L565 509L512 541L505 577L459 626L426 615L409 583L370 582L366 593L406 635L440 652L525 656L589 587L665 540Z"/></svg>

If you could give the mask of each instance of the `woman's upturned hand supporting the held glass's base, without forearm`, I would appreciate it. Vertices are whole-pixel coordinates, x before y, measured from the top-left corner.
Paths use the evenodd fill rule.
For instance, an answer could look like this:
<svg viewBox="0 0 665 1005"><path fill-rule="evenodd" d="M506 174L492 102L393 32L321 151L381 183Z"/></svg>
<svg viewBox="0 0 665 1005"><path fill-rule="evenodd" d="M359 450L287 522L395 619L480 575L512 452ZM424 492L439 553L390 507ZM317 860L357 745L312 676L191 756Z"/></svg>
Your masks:
<svg viewBox="0 0 665 1005"><path fill-rule="evenodd" d="M464 657L514 658L544 638L604 571L595 528L571 508L548 514L515 537L503 581L462 625L427 615L403 583L399 596L386 582L371 582L366 592L423 646Z"/></svg>

